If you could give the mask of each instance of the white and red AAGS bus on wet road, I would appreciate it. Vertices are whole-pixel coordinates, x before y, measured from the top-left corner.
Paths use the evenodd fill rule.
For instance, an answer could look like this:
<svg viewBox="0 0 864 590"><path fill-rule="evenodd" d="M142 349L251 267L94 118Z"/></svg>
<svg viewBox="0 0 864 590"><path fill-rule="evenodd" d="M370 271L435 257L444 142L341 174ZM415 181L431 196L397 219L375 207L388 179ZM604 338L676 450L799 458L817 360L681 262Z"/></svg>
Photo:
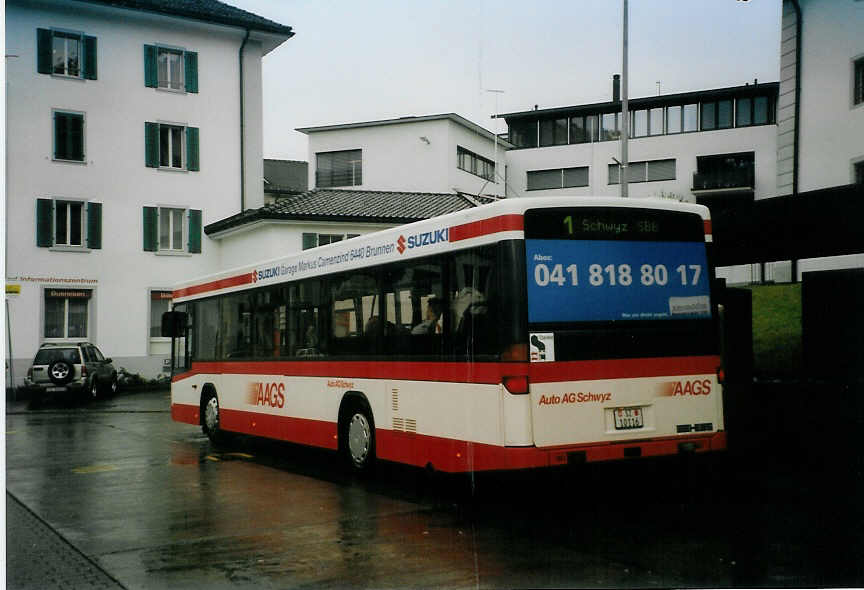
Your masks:
<svg viewBox="0 0 864 590"><path fill-rule="evenodd" d="M722 450L710 241L698 205L507 199L189 281L171 415L361 470Z"/></svg>

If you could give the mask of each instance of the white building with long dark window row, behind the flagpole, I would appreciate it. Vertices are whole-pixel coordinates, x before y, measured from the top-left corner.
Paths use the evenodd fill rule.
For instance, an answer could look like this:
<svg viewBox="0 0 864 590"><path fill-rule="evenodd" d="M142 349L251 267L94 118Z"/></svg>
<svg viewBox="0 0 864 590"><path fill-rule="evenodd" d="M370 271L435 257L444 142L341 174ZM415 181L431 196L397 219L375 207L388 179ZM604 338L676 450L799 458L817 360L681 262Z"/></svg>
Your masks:
<svg viewBox="0 0 864 590"><path fill-rule="evenodd" d="M774 196L777 83L629 100L632 198L714 206ZM500 115L508 197L617 196L621 101L617 76L605 103Z"/></svg>

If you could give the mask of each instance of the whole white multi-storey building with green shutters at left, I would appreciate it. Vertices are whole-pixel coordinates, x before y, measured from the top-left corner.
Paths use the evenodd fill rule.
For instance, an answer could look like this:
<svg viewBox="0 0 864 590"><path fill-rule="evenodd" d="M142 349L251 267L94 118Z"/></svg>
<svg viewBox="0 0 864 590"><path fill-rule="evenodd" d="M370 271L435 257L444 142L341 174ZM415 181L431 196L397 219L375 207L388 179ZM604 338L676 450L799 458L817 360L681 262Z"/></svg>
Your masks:
<svg viewBox="0 0 864 590"><path fill-rule="evenodd" d="M202 227L264 203L261 60L292 35L216 0L6 3L16 383L44 342L162 370L170 288L217 269Z"/></svg>

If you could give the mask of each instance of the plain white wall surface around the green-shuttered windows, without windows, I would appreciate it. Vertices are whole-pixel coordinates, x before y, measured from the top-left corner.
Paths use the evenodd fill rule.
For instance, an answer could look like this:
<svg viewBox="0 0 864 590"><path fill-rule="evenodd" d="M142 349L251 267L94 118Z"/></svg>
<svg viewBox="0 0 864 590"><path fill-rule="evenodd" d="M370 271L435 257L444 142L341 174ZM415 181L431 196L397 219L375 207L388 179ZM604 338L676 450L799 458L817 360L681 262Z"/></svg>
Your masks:
<svg viewBox="0 0 864 590"><path fill-rule="evenodd" d="M37 28L95 36L98 79L37 73ZM6 64L6 280L21 286L9 302L17 381L43 341L44 289L58 286L93 289L87 339L118 365L149 376L161 370L164 355L153 352L164 343L149 337L149 290L215 271L217 244L204 236L201 254L144 252L142 208L201 209L205 225L239 211L242 37L238 29L86 2L7 3L6 53L18 56ZM143 47L154 43L198 52L197 94L145 87ZM258 169L260 54L252 44L246 97L247 158ZM85 113L85 163L52 161L52 109ZM145 121L198 127L200 172L147 168ZM259 171L247 180L262 193ZM102 248L38 248L37 198L102 203Z"/></svg>

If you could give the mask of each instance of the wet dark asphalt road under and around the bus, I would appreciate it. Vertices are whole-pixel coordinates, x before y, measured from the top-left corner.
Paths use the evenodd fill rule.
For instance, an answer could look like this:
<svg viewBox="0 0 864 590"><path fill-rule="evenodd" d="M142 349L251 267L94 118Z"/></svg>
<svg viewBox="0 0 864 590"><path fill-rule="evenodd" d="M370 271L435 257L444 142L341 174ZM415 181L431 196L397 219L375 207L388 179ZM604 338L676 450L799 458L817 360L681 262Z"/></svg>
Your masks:
<svg viewBox="0 0 864 590"><path fill-rule="evenodd" d="M126 588L864 585L848 458L765 440L705 462L357 479L328 452L215 448L168 404L7 404L7 491Z"/></svg>

